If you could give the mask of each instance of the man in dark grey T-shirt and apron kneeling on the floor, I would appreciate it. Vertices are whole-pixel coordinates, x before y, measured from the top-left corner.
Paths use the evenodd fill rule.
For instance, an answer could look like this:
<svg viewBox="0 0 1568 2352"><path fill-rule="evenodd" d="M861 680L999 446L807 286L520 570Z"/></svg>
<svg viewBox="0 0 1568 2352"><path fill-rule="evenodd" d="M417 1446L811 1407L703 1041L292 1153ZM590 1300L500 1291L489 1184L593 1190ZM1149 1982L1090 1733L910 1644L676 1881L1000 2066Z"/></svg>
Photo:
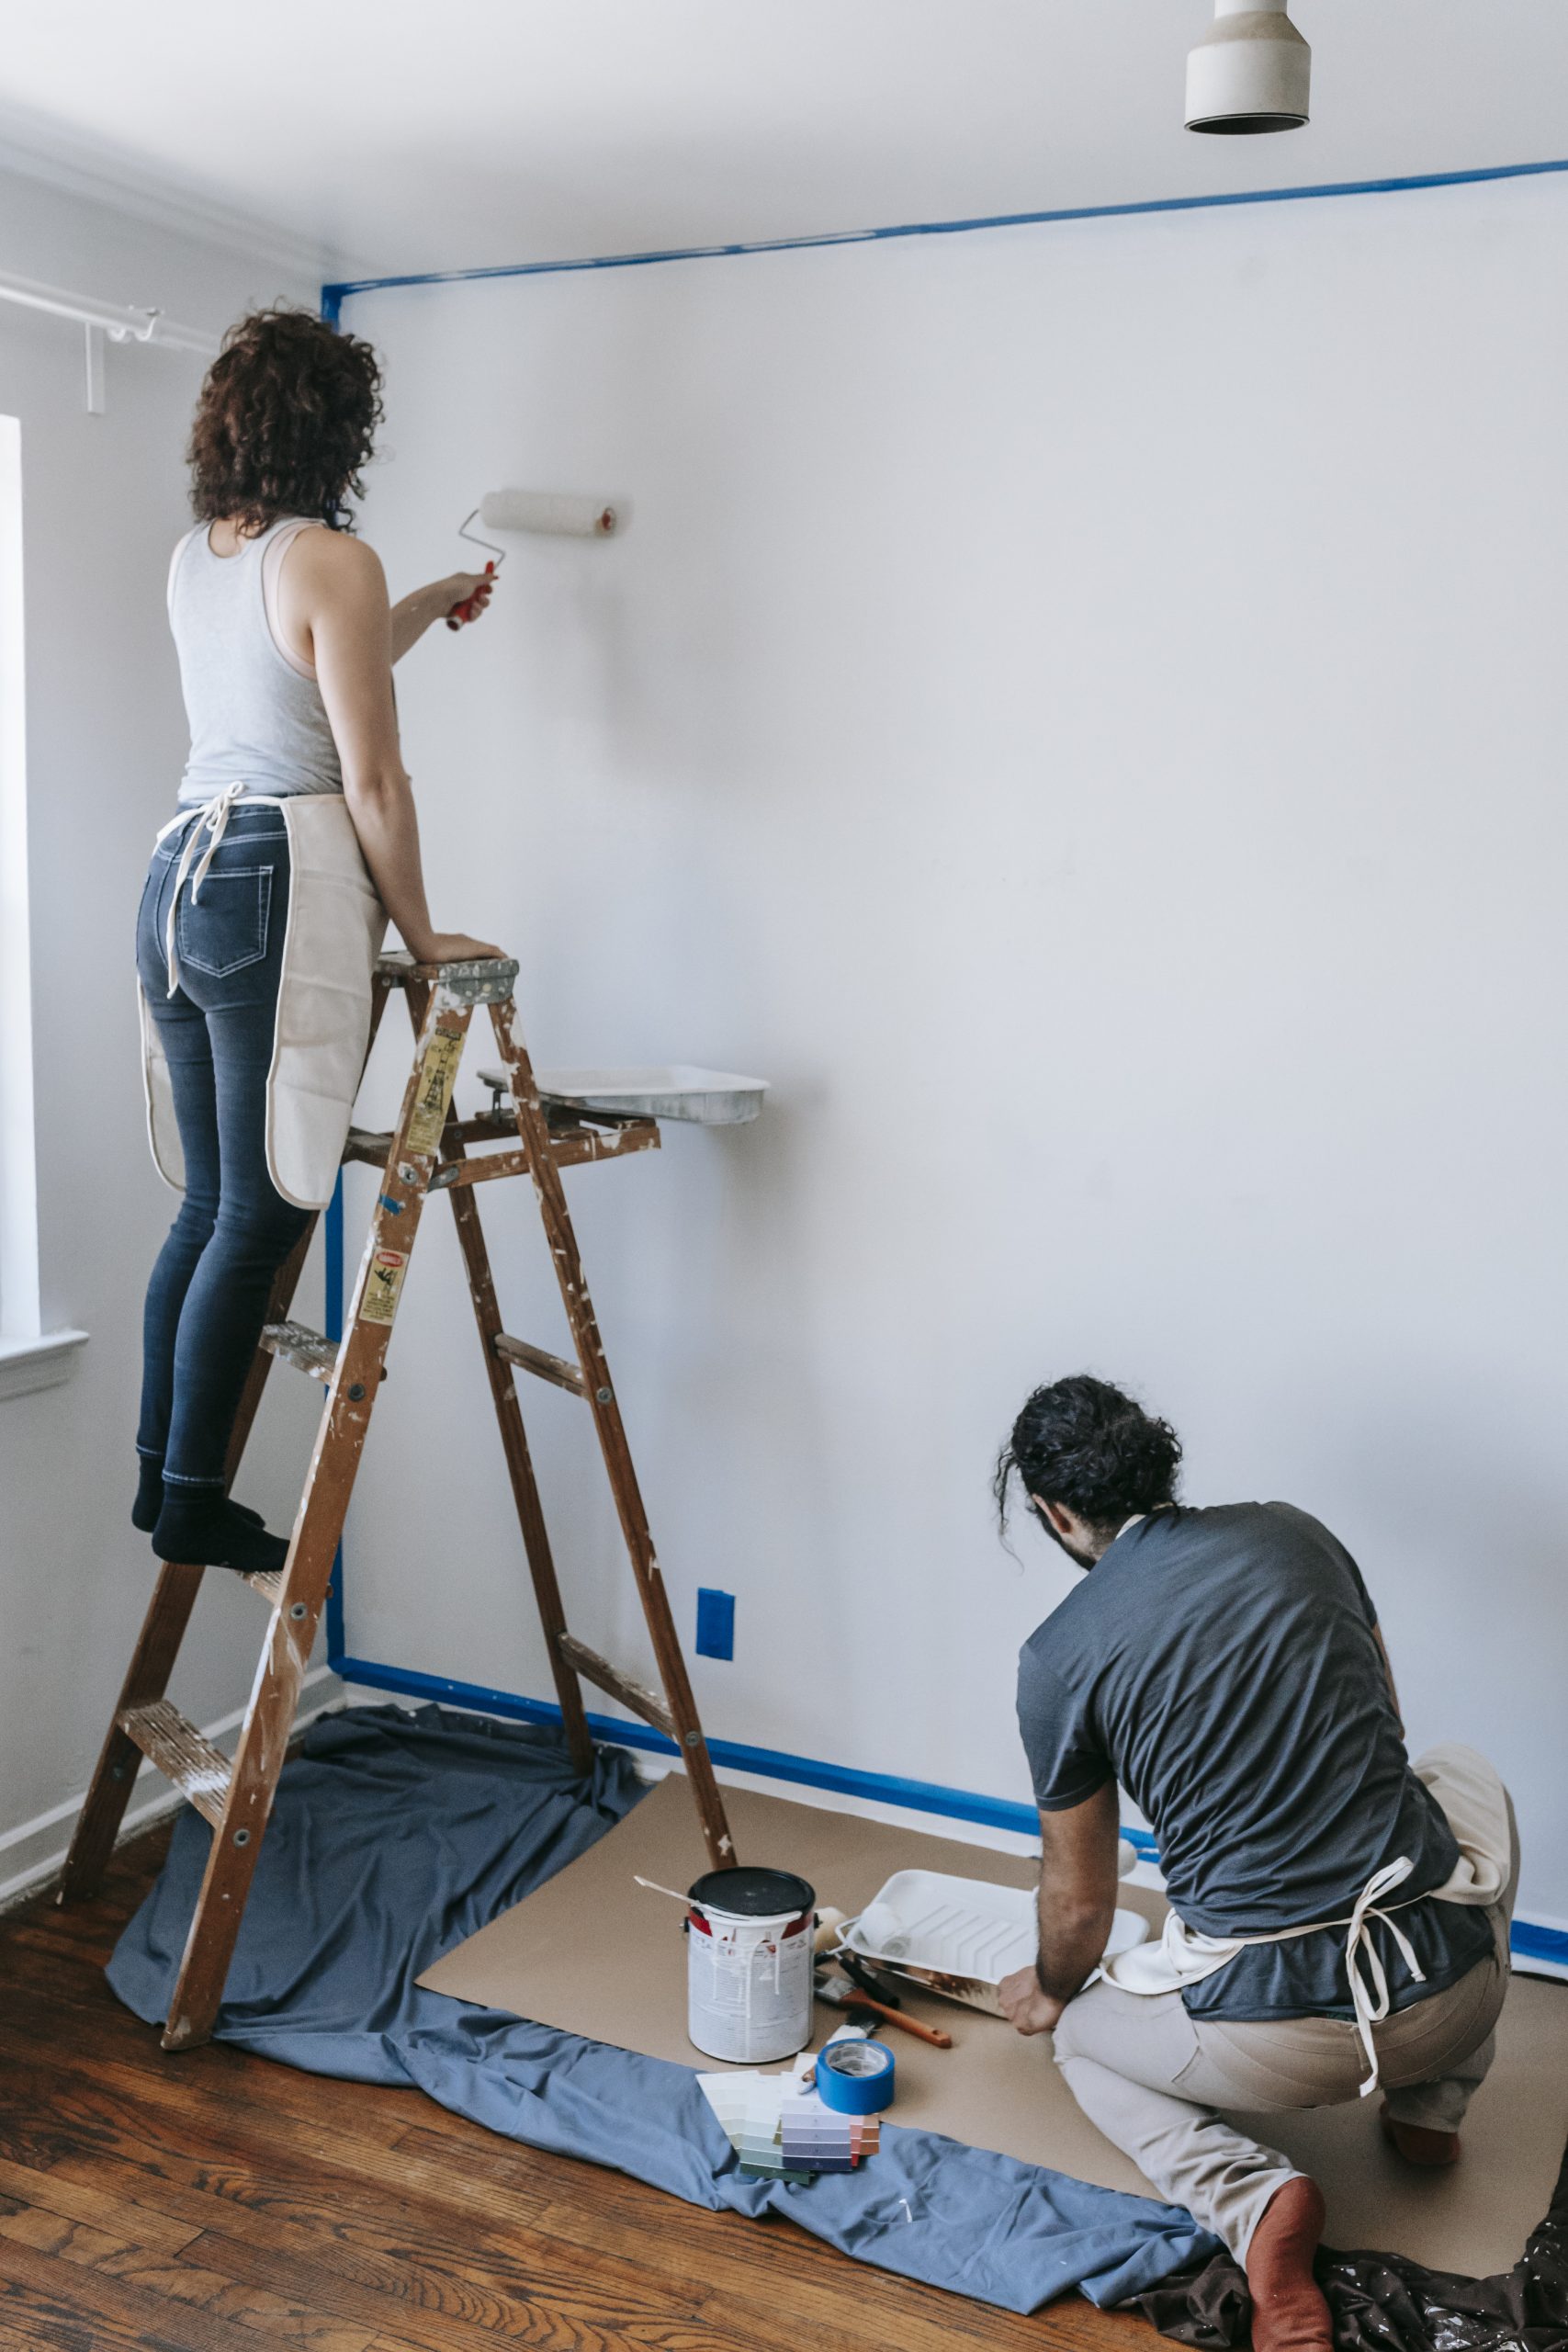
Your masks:
<svg viewBox="0 0 1568 2352"><path fill-rule="evenodd" d="M1288 1503L1190 1510L1180 1444L1105 1381L1037 1390L997 1465L1079 1569L1030 1635L1018 1722L1044 1839L1039 1962L1001 1985L1084 2114L1222 2237L1260 2352L1331 2347L1314 2180L1215 2110L1382 2086L1410 2164L1453 2164L1493 2058L1519 1839L1472 1748L1410 1764L1378 1611ZM1164 1940L1107 1962L1117 1783L1154 1830Z"/></svg>

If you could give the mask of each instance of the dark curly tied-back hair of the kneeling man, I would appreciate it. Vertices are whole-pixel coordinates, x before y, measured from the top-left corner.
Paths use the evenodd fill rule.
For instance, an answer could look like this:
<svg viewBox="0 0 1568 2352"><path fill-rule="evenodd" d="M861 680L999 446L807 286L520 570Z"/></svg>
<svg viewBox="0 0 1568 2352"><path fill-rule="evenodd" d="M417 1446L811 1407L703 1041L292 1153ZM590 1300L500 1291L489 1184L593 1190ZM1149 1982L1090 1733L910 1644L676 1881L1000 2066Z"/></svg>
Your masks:
<svg viewBox="0 0 1568 2352"><path fill-rule="evenodd" d="M1030 1496L1065 1503L1098 1534L1114 1534L1140 1510L1175 1496L1182 1442L1110 1381L1079 1371L1037 1388L997 1456L997 1519L1006 1534L1013 1472Z"/></svg>

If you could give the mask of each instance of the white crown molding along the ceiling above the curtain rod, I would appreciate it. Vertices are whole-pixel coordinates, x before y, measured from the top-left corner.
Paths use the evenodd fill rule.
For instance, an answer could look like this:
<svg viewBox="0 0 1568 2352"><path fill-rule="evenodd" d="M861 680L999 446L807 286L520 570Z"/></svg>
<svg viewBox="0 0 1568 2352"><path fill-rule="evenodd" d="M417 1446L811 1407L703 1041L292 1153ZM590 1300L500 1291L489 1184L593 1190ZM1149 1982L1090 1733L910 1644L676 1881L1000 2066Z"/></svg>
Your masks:
<svg viewBox="0 0 1568 2352"><path fill-rule="evenodd" d="M129 212L200 245L219 245L294 280L320 285L350 275L324 240L240 212L197 183L158 172L108 141L66 129L31 108L0 101L0 169Z"/></svg>

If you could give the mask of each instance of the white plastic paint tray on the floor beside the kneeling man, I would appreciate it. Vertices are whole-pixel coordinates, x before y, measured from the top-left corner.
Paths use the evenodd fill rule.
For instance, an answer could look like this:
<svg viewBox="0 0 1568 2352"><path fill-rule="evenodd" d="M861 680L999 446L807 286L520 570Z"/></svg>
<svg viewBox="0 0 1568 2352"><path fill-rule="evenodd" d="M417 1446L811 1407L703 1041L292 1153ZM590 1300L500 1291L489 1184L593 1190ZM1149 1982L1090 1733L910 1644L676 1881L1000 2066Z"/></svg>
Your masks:
<svg viewBox="0 0 1568 2352"><path fill-rule="evenodd" d="M1143 1912L1119 1910L1105 1950L1128 1952L1147 1933ZM898 1870L877 1900L844 1926L844 1943L950 2002L1001 2016L997 1985L1013 1969L1027 1969L1039 1947L1034 1896L990 1879Z"/></svg>

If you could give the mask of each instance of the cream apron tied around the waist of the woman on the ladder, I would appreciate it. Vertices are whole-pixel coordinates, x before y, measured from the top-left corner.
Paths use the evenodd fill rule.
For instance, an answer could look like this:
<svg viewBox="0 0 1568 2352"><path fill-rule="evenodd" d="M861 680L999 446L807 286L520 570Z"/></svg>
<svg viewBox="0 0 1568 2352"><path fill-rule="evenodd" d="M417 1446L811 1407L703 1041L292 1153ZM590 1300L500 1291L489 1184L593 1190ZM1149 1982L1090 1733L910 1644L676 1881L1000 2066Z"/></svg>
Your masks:
<svg viewBox="0 0 1568 2352"><path fill-rule="evenodd" d="M230 783L202 809L181 809L158 840L188 823L181 873L169 903L165 953L174 948L181 894L193 898L223 840L233 807L282 809L289 835L289 922L282 938L273 1065L266 1082L266 1164L296 1209L324 1209L343 1162L348 1122L364 1070L371 976L386 934L386 908L364 868L364 851L341 793L249 793ZM169 962L174 983L179 964ZM153 1164L186 1190L186 1155L174 1120L174 1087L146 993L141 993L141 1070L148 1096Z"/></svg>

